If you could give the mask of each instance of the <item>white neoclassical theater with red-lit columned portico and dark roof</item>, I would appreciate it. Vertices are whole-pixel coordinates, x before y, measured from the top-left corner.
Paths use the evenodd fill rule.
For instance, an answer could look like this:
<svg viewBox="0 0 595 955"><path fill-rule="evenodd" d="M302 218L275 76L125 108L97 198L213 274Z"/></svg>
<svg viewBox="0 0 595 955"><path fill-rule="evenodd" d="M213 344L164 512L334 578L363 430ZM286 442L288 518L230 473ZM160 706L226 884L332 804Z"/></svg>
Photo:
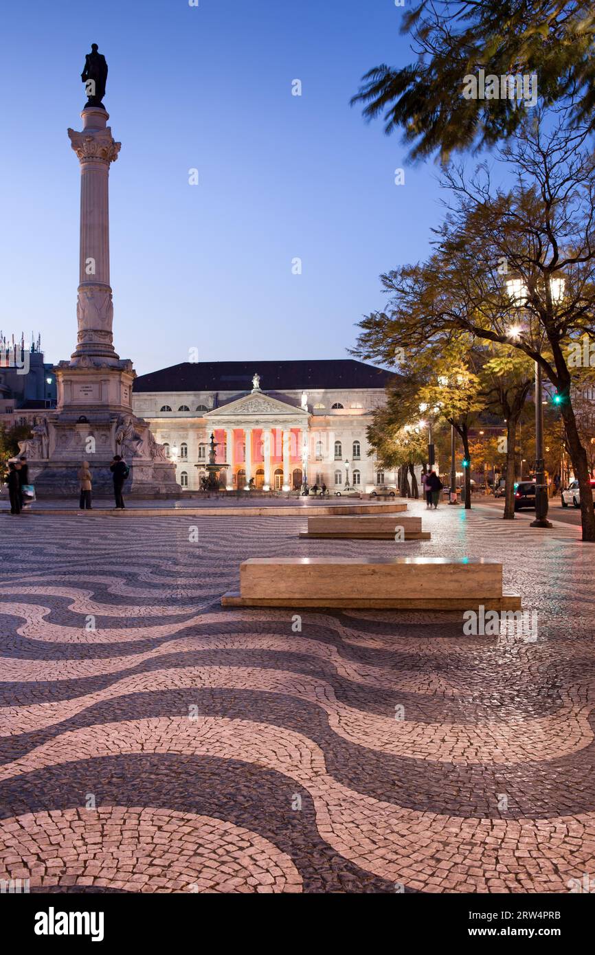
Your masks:
<svg viewBox="0 0 595 955"><path fill-rule="evenodd" d="M229 490L331 493L393 484L369 456L366 428L392 374L351 358L184 362L140 375L133 410L175 461L182 488L201 487L211 434Z"/></svg>

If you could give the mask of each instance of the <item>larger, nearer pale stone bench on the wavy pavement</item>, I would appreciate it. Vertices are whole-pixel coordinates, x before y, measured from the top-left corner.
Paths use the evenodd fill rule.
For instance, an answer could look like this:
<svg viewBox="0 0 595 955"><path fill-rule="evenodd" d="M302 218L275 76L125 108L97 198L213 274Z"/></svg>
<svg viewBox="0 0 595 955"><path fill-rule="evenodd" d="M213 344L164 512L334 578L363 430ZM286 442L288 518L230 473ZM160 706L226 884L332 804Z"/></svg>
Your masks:
<svg viewBox="0 0 595 955"><path fill-rule="evenodd" d="M240 593L223 606L516 610L502 565L485 558L264 557L240 565Z"/></svg>

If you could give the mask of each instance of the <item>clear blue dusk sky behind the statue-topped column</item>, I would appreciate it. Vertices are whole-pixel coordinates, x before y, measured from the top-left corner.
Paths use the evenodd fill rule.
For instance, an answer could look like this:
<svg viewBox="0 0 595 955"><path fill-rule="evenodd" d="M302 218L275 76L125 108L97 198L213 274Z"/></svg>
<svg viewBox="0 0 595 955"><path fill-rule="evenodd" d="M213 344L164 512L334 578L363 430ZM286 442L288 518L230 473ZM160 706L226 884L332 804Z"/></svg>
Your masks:
<svg viewBox="0 0 595 955"><path fill-rule="evenodd" d="M347 357L383 303L379 273L423 257L441 216L436 166L406 166L396 186L399 138L349 105L370 67L410 60L402 12L394 0L5 5L0 328L40 330L50 361L74 350L66 130L81 128L96 42L122 143L110 174L120 356L138 373L193 348L202 361Z"/></svg>

